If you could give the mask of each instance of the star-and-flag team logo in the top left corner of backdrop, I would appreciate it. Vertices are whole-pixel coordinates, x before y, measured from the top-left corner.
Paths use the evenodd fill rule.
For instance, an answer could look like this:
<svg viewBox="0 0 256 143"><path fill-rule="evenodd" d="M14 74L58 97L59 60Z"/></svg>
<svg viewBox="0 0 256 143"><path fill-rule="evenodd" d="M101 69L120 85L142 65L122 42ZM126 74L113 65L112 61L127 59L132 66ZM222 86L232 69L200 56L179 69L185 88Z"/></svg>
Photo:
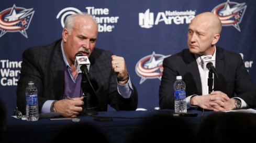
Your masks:
<svg viewBox="0 0 256 143"><path fill-rule="evenodd" d="M30 21L34 15L33 8L13 7L7 8L0 12L0 37L7 32L20 32L28 38L26 30L29 27Z"/></svg>

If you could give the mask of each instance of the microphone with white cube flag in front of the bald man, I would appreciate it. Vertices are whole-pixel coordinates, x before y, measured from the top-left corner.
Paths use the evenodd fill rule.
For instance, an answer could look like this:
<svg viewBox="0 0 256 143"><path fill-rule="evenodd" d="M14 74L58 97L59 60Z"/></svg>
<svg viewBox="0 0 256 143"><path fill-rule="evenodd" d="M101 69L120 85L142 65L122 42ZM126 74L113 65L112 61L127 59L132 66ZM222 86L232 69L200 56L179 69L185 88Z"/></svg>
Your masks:
<svg viewBox="0 0 256 143"><path fill-rule="evenodd" d="M213 72L218 77L218 73L214 65L214 61L215 61L214 57L212 55L203 55L203 56L200 56L200 59L201 59L201 67L204 69L204 71Z"/></svg>

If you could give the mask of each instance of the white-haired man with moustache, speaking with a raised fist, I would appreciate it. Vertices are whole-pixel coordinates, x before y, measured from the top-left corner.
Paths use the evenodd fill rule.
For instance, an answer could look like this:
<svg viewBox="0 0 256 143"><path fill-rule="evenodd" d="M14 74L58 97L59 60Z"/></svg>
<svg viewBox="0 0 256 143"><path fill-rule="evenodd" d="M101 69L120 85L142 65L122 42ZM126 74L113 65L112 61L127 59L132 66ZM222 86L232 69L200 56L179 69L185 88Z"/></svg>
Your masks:
<svg viewBox="0 0 256 143"><path fill-rule="evenodd" d="M136 110L137 89L131 83L124 58L95 48L96 39L97 23L93 17L74 14L66 18L61 40L25 50L17 87L18 109L25 114L25 88L29 81L34 81L42 113L59 112L75 117L84 105L97 111L107 111L107 105L116 110ZM77 73L74 66L78 52L91 62L89 79L93 88L87 91L81 88L84 75ZM93 95L98 101L90 107L90 100L97 99Z"/></svg>

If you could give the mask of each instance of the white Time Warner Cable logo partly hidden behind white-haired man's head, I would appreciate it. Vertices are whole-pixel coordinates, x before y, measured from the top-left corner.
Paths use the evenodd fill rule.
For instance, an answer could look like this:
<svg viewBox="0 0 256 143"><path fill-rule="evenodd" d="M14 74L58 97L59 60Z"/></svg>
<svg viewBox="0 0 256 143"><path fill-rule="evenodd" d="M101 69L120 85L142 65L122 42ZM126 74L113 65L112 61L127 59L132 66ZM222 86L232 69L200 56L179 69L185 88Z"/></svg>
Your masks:
<svg viewBox="0 0 256 143"><path fill-rule="evenodd" d="M109 17L109 9L108 8L95 8L95 7L85 7L85 9L87 10L87 13L90 15L93 15L94 19L96 20L96 22L98 23L98 32L112 32L113 29L115 28L115 25L113 25L113 23L117 23L119 17ZM77 8L74 7L67 7L62 9L58 15L57 15L57 19L61 19L61 25L62 28L64 28L64 22L65 22L65 18L73 15L73 14L77 14L77 13L82 13L82 11L80 11ZM99 15L99 16L97 16Z"/></svg>

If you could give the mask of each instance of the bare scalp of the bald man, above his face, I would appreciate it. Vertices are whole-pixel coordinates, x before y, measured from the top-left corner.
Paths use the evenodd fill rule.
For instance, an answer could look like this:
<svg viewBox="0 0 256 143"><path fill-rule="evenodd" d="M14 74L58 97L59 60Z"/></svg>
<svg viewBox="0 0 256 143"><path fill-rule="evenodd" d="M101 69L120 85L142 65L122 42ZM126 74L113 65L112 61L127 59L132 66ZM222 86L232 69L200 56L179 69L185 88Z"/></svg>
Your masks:
<svg viewBox="0 0 256 143"><path fill-rule="evenodd" d="M213 14L212 12L203 12L197 15L191 23L198 22L205 24L209 29L212 30L213 34L220 34L221 32L221 21L220 19Z"/></svg>

